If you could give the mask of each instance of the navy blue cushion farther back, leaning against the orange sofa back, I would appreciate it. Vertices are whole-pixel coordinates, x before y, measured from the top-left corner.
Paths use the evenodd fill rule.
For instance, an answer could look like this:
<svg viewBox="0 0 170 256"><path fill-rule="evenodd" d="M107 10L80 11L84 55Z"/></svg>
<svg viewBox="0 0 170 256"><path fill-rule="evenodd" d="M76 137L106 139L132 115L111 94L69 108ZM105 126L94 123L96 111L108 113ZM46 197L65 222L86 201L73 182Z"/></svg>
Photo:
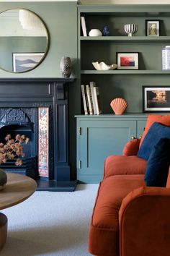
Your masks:
<svg viewBox="0 0 170 256"><path fill-rule="evenodd" d="M165 125L157 122L153 123L138 150L138 157L148 160L153 146L164 137L170 139L170 127L166 127Z"/></svg>

